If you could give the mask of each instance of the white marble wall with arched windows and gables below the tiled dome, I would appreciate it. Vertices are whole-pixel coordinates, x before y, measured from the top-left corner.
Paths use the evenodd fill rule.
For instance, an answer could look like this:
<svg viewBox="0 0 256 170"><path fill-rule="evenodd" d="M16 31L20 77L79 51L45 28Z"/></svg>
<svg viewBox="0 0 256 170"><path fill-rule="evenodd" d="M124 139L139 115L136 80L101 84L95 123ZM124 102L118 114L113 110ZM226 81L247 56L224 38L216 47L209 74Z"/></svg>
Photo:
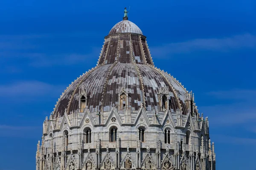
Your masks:
<svg viewBox="0 0 256 170"><path fill-rule="evenodd" d="M143 107L129 124L123 123L124 116L115 107L105 113L108 116L101 124L92 115L86 109L46 118L36 170L215 170L214 143L203 116L182 115L178 126L179 113L158 113L154 122L154 116L148 116L154 114ZM116 140L111 142L113 127ZM140 138L141 128L144 139Z"/></svg>

